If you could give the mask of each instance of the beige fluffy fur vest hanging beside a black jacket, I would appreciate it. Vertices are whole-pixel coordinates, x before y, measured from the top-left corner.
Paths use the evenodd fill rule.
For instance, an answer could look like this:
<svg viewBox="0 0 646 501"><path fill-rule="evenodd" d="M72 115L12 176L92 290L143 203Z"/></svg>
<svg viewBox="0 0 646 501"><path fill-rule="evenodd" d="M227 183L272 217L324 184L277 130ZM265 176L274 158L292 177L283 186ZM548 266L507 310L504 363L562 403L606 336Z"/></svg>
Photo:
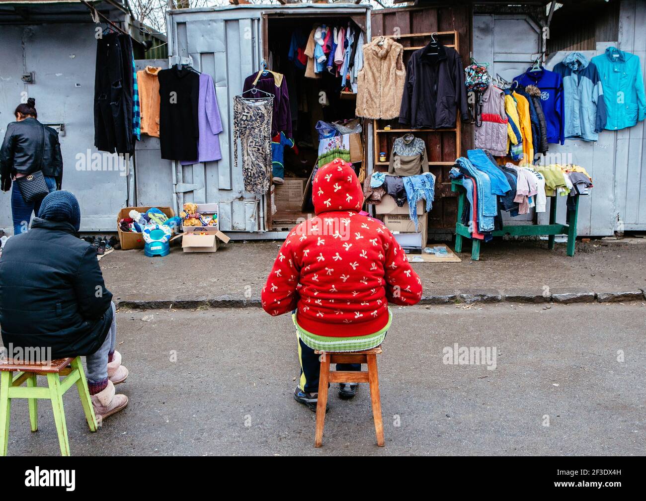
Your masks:
<svg viewBox="0 0 646 501"><path fill-rule="evenodd" d="M406 70L404 47L379 37L363 46L363 67L357 76L357 116L390 120L399 116Z"/></svg>

